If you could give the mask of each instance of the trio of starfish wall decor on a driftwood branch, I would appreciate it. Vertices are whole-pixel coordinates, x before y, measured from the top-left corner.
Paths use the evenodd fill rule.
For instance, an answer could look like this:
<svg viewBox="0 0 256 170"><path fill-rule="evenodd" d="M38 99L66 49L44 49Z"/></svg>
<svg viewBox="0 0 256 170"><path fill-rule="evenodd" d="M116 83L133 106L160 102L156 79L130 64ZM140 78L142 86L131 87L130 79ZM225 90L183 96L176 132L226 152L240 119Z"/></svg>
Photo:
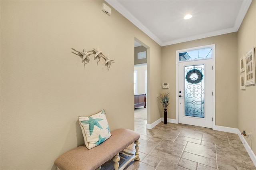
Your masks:
<svg viewBox="0 0 256 170"><path fill-rule="evenodd" d="M93 48L91 51L86 51L86 49L84 48L83 51L77 51L74 48L73 49L75 52L72 51L72 53L79 55L82 58L82 63L87 64L90 61L89 56L94 54L94 58L98 61L100 61L100 57L104 58L105 60L105 65L108 67L108 69L110 68L110 64L114 63L114 59L110 59L109 55L104 55L102 53L102 51L100 51L100 48L97 47L96 49Z"/></svg>

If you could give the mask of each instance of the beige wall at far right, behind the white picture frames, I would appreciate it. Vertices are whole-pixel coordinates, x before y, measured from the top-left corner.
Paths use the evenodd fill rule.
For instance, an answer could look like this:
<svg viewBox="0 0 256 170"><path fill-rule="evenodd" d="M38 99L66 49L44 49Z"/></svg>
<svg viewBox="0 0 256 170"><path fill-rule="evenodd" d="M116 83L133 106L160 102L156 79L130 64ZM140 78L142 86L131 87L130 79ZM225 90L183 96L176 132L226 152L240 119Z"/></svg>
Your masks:
<svg viewBox="0 0 256 170"><path fill-rule="evenodd" d="M252 47L256 46L256 1L252 4L238 30L238 55L245 55ZM240 67L239 63L237 67ZM237 81L240 83L240 70L237 71ZM240 131L252 132L252 150L256 153L256 87L246 87L246 90L237 88L238 93L238 128ZM248 144L250 141L246 139Z"/></svg>

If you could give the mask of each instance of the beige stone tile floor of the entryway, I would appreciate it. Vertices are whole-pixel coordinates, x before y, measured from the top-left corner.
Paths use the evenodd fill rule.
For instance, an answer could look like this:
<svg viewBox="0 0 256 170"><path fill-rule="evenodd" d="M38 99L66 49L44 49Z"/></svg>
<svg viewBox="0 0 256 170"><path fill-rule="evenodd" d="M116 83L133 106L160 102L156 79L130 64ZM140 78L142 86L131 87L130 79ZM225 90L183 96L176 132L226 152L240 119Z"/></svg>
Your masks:
<svg viewBox="0 0 256 170"><path fill-rule="evenodd" d="M137 118L135 131L140 161L126 170L256 170L237 134L163 122L146 129L146 120Z"/></svg>

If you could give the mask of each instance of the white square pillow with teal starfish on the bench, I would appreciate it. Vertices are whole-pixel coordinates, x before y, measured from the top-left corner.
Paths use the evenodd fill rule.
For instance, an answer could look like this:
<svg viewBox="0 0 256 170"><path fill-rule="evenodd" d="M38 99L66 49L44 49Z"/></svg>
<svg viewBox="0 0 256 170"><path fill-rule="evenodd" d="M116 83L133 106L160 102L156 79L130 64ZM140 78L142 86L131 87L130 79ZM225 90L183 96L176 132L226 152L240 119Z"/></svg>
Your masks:
<svg viewBox="0 0 256 170"><path fill-rule="evenodd" d="M98 146L111 136L104 110L90 117L78 117L78 122L88 149Z"/></svg>

